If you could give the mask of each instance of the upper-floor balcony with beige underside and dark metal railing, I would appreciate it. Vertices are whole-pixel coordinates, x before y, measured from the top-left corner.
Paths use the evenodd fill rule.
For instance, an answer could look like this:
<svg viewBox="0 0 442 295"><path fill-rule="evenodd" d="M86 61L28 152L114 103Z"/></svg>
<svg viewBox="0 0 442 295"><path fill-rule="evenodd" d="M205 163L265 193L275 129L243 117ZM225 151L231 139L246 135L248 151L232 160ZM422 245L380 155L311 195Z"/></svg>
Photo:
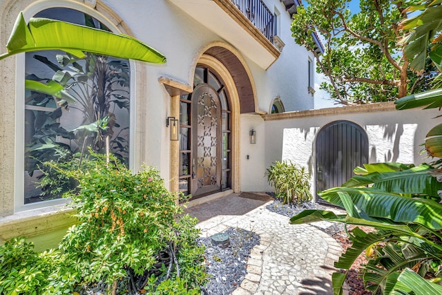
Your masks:
<svg viewBox="0 0 442 295"><path fill-rule="evenodd" d="M273 46L273 15L261 0L169 0L235 46L261 68L280 55Z"/></svg>

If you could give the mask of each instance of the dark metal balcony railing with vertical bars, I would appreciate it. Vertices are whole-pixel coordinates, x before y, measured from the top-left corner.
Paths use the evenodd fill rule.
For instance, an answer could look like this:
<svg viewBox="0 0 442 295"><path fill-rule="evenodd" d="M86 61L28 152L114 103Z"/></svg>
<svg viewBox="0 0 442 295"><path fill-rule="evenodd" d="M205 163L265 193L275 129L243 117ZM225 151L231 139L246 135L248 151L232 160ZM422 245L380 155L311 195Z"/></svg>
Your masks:
<svg viewBox="0 0 442 295"><path fill-rule="evenodd" d="M231 0L269 41L273 42L273 14L262 0Z"/></svg>

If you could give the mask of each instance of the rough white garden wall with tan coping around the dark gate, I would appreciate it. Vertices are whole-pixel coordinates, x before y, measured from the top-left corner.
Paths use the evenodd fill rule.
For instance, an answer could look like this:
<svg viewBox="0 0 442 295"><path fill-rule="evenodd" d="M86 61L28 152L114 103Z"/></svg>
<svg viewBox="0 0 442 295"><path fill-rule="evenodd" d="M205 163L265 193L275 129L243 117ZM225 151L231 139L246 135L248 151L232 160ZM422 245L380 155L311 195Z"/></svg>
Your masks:
<svg viewBox="0 0 442 295"><path fill-rule="evenodd" d="M425 134L438 124L436 110L396 111L392 103L330 108L265 116L265 167L276 160L291 160L306 166L315 191L315 140L318 131L336 120L361 126L369 142L369 162L428 161L421 155ZM277 119L276 119L277 118ZM276 119L276 120L275 120ZM271 189L268 185L262 190Z"/></svg>

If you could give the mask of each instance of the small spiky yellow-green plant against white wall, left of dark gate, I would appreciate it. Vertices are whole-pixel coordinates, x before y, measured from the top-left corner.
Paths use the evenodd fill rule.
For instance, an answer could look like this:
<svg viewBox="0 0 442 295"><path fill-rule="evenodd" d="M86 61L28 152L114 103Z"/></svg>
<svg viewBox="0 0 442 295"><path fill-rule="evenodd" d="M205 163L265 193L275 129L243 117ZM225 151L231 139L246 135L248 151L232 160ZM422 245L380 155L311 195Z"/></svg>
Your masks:
<svg viewBox="0 0 442 295"><path fill-rule="evenodd" d="M266 169L269 184L275 187L276 197L284 204L305 202L313 198L310 193L310 175L304 166L276 161Z"/></svg>

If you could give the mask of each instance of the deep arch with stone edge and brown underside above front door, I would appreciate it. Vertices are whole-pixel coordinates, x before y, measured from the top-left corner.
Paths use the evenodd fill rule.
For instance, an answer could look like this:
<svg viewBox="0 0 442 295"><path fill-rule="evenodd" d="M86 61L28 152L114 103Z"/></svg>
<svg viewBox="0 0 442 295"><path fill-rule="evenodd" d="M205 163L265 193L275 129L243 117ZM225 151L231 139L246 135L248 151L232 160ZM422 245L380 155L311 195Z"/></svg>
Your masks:
<svg viewBox="0 0 442 295"><path fill-rule="evenodd" d="M258 99L256 98L256 87L253 82L251 71L246 62L238 53L238 50L221 41L214 41L198 50L193 59L193 66L189 73L189 82L193 84L195 68L202 55L208 55L220 61L230 73L235 84L238 97L240 97L240 113L258 112Z"/></svg>

